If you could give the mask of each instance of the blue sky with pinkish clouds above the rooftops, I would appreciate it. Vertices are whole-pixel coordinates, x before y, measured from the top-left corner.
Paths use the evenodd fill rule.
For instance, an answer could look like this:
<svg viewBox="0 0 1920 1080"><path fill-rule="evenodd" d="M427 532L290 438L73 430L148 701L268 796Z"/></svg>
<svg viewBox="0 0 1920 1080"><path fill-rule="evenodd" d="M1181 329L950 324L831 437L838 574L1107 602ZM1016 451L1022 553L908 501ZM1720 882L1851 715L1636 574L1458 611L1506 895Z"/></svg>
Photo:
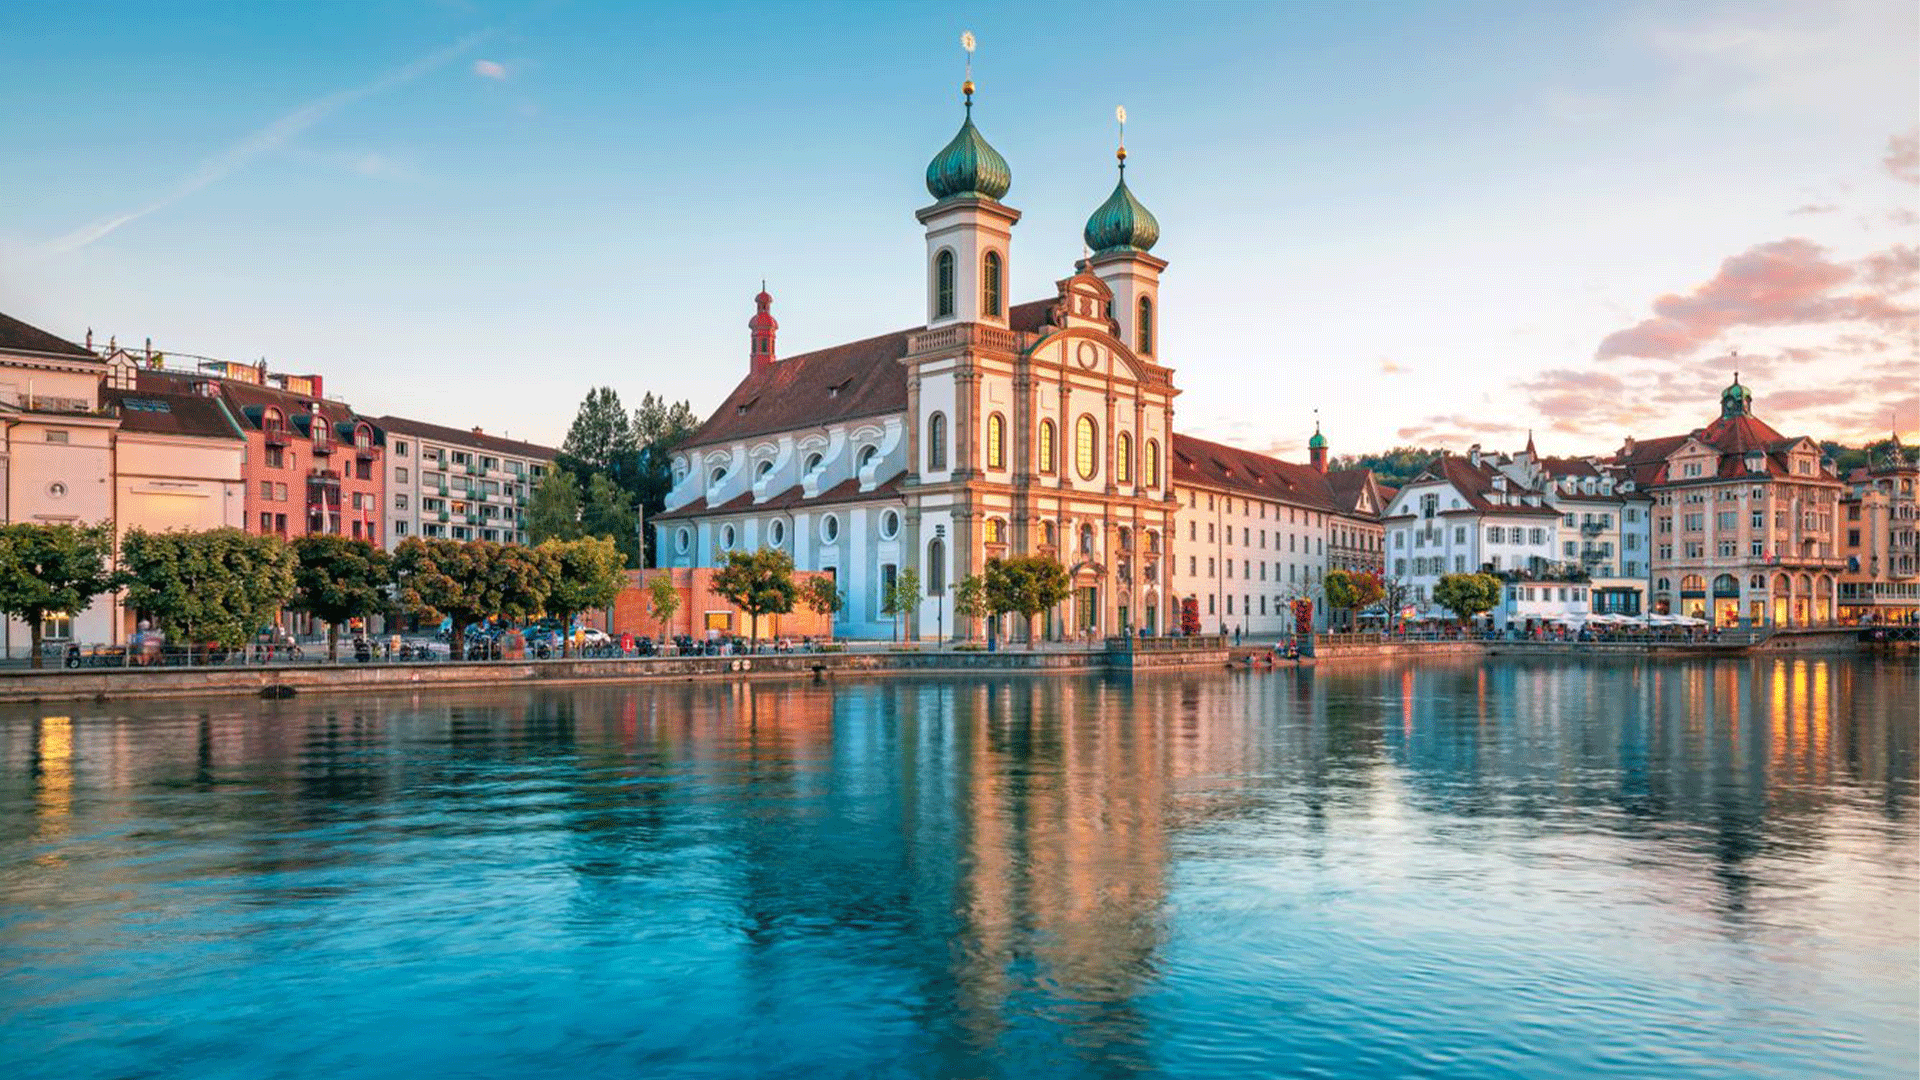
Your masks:
<svg viewBox="0 0 1920 1080"><path fill-rule="evenodd" d="M785 354L924 315L962 29L1018 298L1127 106L1187 430L1611 450L1730 348L1784 430L1920 425L1910 2L10 4L0 309L536 440L705 411L762 277Z"/></svg>

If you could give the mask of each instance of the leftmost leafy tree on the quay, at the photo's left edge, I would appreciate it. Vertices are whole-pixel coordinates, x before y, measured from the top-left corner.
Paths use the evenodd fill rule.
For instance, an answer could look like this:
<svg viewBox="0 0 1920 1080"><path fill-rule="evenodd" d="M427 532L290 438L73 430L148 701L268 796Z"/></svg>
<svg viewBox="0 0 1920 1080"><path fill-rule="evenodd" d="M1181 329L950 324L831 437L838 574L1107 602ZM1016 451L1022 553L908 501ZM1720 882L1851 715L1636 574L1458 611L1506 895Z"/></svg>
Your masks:
<svg viewBox="0 0 1920 1080"><path fill-rule="evenodd" d="M79 615L119 588L111 555L111 525L0 525L0 613L27 623L33 667L40 667L48 615Z"/></svg>

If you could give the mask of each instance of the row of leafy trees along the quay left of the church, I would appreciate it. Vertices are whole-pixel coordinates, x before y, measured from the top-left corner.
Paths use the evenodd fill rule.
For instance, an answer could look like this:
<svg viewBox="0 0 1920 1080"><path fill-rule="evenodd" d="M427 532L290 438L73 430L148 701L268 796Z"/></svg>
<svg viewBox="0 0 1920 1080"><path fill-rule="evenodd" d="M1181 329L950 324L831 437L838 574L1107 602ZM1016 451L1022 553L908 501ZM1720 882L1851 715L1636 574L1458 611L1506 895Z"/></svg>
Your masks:
<svg viewBox="0 0 1920 1080"><path fill-rule="evenodd" d="M46 621L84 611L125 590L125 601L184 644L242 648L280 611L326 623L326 653L340 626L374 615L447 619L453 653L467 626L547 615L563 625L612 603L626 584L611 540L582 536L524 548L490 540L422 540L394 553L346 536L255 536L238 528L132 530L113 567L106 525L0 527L0 613L27 623L40 667ZM563 644L563 655L564 655Z"/></svg>

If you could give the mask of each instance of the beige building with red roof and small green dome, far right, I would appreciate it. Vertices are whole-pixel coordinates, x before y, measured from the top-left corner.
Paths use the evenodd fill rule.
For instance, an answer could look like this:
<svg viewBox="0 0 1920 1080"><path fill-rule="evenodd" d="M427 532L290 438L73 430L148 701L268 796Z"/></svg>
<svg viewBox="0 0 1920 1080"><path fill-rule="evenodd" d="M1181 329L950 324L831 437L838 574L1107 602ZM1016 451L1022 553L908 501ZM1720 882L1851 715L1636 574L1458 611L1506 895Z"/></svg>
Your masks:
<svg viewBox="0 0 1920 1080"><path fill-rule="evenodd" d="M1753 392L1720 394L1720 419L1688 434L1632 440L1615 454L1653 494L1657 613L1716 626L1805 626L1837 619L1845 484L1807 436L1753 415Z"/></svg>

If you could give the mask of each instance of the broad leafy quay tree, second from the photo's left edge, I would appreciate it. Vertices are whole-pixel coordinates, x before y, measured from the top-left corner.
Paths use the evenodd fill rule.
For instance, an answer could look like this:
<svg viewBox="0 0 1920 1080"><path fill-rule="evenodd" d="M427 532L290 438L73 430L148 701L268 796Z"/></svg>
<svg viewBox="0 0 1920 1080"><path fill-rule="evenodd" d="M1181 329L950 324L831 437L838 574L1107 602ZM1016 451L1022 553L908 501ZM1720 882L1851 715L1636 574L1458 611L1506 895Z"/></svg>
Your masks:
<svg viewBox="0 0 1920 1080"><path fill-rule="evenodd" d="M121 544L127 603L184 646L246 646L294 598L294 548L278 536L238 528L136 528Z"/></svg>

